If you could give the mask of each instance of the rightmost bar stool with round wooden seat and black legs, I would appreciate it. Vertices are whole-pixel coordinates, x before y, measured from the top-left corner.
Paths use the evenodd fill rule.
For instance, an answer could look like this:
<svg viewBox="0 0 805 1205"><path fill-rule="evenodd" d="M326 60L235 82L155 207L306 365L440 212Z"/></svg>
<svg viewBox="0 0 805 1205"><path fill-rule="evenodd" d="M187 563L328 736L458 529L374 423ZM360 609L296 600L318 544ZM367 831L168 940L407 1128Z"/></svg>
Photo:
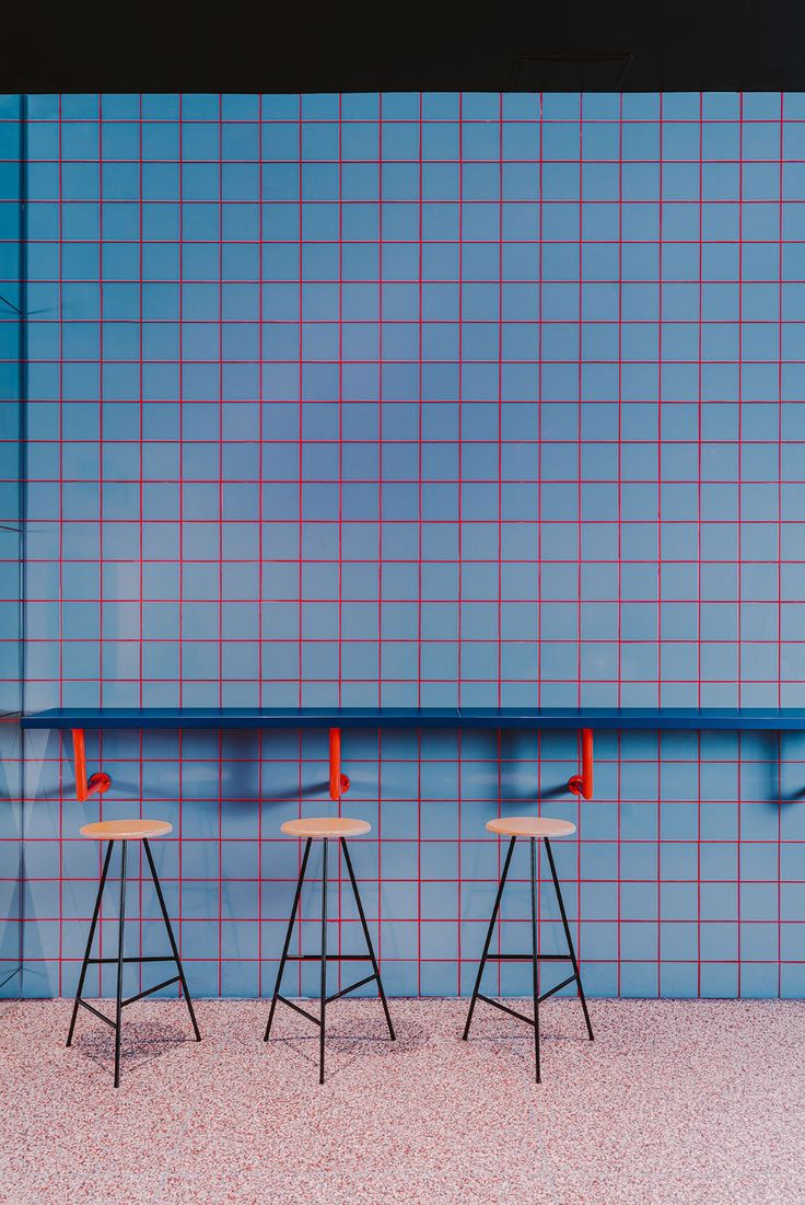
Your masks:
<svg viewBox="0 0 805 1205"><path fill-rule="evenodd" d="M570 836L576 831L576 825L571 824L570 821L557 821L550 819L547 816L533 817L533 816L512 816L501 817L500 819L489 821L487 823L487 830L489 833L498 833L504 836L511 837L509 842L509 851L506 853L506 860L504 863L503 875L500 876L500 884L498 887L498 894L495 897L494 907L492 909L492 919L489 921L489 929L487 931L487 940L483 944L483 953L481 954L481 965L478 966L478 974L475 980L475 987L472 989L472 999L470 1000L470 1011L466 1018L466 1025L464 1027L463 1040L466 1041L470 1033L470 1024L472 1022L472 1013L475 1011L476 1000L483 1000L486 1004L490 1004L494 1009L500 1009L501 1012L507 1012L512 1017L517 1017L519 1021L524 1021L527 1024L534 1027L534 1052L536 1060L536 1082L540 1082L540 1005L543 1000L547 1000L550 995L556 995L560 992L563 987L568 987L569 983L576 983L578 986L578 999L581 1000L581 1006L584 1012L584 1023L587 1025L587 1034L590 1042L593 1041L593 1027L589 1022L589 1012L587 1011L587 1000L584 999L584 989L581 982L581 972L578 970L578 963L576 960L576 951L574 950L572 937L570 936L570 925L568 924L568 913L565 912L564 900L562 899L562 890L559 889L559 880L557 877L557 868L553 860L553 852L551 850L550 837L552 836ZM530 882L530 895L531 895L531 952L528 954L490 954L489 946L492 945L492 935L494 933L495 922L498 919L498 912L500 911L500 899L503 897L503 889L509 876L509 868L511 865L511 858L515 852L515 845L517 837L528 837L531 846L531 882ZM551 865L551 877L553 878L553 887L557 893L557 901L559 904L559 912L562 915L562 924L565 931L565 941L568 942L566 954L542 954L537 952L536 941L536 842L541 840L545 844L545 852L548 856L548 863ZM487 962L493 959L494 962L507 962L507 963L523 963L530 962L533 966L533 997L534 997L534 1018L527 1017L522 1012L517 1012L515 1009L507 1007L505 1004L500 1004L498 1000L493 1000L488 995L483 995L480 991L481 977L483 976L483 968ZM557 983L548 992L543 992L540 995L539 989L539 963L540 962L570 962L572 965L572 975L563 980L562 983Z"/></svg>

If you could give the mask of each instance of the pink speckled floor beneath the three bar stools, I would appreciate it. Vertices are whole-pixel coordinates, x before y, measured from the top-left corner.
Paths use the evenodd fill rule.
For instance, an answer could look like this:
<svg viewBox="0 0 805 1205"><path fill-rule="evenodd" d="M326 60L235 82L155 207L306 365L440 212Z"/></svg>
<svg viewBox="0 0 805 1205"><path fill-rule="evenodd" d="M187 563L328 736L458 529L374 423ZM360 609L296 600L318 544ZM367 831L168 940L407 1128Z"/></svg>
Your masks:
<svg viewBox="0 0 805 1205"><path fill-rule="evenodd" d="M265 1001L127 1010L112 1030L70 1004L0 1005L0 1201L12 1205L805 1205L805 1003L593 1000L543 1012L543 1083L529 1029L478 1004ZM108 1001L106 1001L108 1006ZM525 1005L522 1005L525 1009Z"/></svg>

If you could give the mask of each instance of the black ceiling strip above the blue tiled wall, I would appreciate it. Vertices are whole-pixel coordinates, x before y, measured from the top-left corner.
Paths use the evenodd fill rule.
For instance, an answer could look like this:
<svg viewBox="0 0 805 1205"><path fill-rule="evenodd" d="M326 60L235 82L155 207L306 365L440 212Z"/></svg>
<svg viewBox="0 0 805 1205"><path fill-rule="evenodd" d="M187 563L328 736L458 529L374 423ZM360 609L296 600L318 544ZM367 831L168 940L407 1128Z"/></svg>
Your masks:
<svg viewBox="0 0 805 1205"><path fill-rule="evenodd" d="M0 93L805 89L803 0L31 4L0 18Z"/></svg>

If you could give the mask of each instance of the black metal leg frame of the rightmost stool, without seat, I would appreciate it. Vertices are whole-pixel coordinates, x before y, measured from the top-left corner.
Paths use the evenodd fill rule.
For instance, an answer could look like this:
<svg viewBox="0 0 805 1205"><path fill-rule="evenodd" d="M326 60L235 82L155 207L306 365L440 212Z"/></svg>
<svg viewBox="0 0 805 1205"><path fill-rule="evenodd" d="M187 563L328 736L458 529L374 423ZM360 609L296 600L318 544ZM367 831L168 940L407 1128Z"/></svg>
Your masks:
<svg viewBox="0 0 805 1205"><path fill-rule="evenodd" d="M487 930L487 937L483 944L483 953L481 954L481 963L478 964L478 974L475 978L475 987L472 988L472 998L470 1000L470 1010L466 1017L466 1024L464 1027L464 1033L462 1038L464 1041L468 1040L470 1034L470 1025L472 1023L472 1015L475 1012L475 1005L477 1000L483 1000L486 1004L490 1004L494 1009L499 1009L501 1012L507 1012L512 1017L517 1017L518 1021L524 1021L527 1024L534 1028L534 1063L535 1063L535 1076L536 1082L541 1082L541 1066L540 1066L540 1005L548 997L554 995L560 992L563 987L568 987L570 983L576 983L578 989L578 999L581 1001L582 1011L584 1013L584 1024L587 1025L587 1035L590 1041L593 1041L593 1027L589 1019L589 1011L587 1009L587 999L584 997L584 989L581 981L581 971L578 969L578 960L576 958L576 951L572 944L572 936L570 933L570 924L568 922L568 913L565 911L564 900L562 898L562 888L559 887L559 877L557 875L556 863L553 860L553 851L551 850L551 842L547 837L542 839L545 841L545 848L548 854L548 863L551 865L551 877L553 880L553 888L557 894L557 903L559 905L559 913L562 916L562 927L564 929L565 942L568 945L566 954L541 954L537 947L539 927L536 921L536 866L537 866L537 850L536 850L536 837L530 837L530 913L531 913L531 950L528 954L490 954L489 946L492 945L492 936L494 934L495 924L498 922L498 915L500 912L500 900L503 897L504 886L506 878L509 877L509 868L511 865L512 853L515 852L515 844L517 837L511 837L509 842L509 851L506 853L506 860L504 863L503 874L500 876L500 883L498 886L498 894L495 897L494 907L492 909L492 918L489 921L489 928ZM530 962L531 963L531 983L533 983L533 999L534 999L534 1016L528 1017L523 1012L517 1012L515 1009L510 1009L505 1004L500 1004L499 1000L493 1000L492 997L484 995L481 992L481 981L483 978L483 971L488 960L494 962ZM572 975L557 983L556 987L548 988L547 992L540 993L540 976L539 976L539 964L542 960L547 962L570 962L572 965Z"/></svg>

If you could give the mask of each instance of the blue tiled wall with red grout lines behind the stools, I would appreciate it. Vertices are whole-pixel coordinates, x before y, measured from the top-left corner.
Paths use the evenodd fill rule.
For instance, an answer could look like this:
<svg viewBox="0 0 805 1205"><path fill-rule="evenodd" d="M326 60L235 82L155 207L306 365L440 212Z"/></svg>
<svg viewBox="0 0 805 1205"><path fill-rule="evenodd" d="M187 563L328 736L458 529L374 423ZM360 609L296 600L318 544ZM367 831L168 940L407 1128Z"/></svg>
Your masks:
<svg viewBox="0 0 805 1205"><path fill-rule="evenodd" d="M29 113L30 709L801 705L804 96ZM199 993L271 989L324 741L90 739L102 815L175 824ZM803 752L601 736L580 806L572 736L345 736L389 988L468 989L484 821L539 806L592 993L801 994ZM27 798L24 989L69 993L99 804L39 734Z"/></svg>

